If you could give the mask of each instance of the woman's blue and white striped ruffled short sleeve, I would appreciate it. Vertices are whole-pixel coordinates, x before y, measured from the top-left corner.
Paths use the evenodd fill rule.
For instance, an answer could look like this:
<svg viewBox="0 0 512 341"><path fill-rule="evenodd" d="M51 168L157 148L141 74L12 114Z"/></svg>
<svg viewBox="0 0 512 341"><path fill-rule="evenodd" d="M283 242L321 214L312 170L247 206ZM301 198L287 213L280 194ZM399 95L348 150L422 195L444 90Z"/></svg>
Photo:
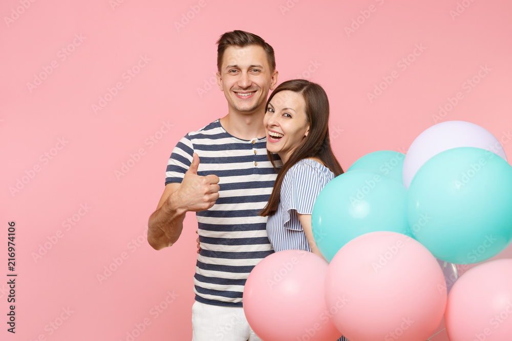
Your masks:
<svg viewBox="0 0 512 341"><path fill-rule="evenodd" d="M280 200L283 225L289 230L302 230L302 226L287 224L291 210L300 214L311 214L313 205L320 191L329 182L325 174L308 164L296 164L285 174L281 186Z"/></svg>

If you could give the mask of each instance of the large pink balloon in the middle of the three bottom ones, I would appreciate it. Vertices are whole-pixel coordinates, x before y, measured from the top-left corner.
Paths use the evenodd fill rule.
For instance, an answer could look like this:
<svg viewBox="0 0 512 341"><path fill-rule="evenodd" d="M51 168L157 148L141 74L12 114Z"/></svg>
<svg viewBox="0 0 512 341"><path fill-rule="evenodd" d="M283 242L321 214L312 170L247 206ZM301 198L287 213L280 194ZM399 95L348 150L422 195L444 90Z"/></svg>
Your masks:
<svg viewBox="0 0 512 341"><path fill-rule="evenodd" d="M446 307L446 283L436 258L396 232L352 239L334 256L325 279L332 322L351 341L425 341ZM466 340L468 341L468 340Z"/></svg>

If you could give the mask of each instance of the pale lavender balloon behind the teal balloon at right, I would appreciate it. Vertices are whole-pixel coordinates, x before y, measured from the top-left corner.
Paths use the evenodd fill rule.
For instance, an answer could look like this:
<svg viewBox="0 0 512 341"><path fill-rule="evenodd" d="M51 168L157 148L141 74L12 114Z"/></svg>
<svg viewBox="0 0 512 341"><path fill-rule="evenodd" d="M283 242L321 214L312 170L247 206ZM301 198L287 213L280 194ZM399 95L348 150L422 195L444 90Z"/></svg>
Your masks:
<svg viewBox="0 0 512 341"><path fill-rule="evenodd" d="M507 157L500 142L492 133L470 122L438 123L418 135L403 161L403 185L409 188L418 169L432 156L451 148L476 147Z"/></svg>

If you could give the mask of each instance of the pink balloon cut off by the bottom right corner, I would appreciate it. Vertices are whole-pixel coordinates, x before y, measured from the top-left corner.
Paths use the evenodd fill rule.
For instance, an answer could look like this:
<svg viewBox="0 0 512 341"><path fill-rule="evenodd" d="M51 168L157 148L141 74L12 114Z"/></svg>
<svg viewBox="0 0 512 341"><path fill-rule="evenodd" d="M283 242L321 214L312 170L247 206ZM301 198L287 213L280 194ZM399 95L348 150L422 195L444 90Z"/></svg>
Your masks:
<svg viewBox="0 0 512 341"><path fill-rule="evenodd" d="M450 291L445 322L451 341L512 340L512 259L465 272Z"/></svg>

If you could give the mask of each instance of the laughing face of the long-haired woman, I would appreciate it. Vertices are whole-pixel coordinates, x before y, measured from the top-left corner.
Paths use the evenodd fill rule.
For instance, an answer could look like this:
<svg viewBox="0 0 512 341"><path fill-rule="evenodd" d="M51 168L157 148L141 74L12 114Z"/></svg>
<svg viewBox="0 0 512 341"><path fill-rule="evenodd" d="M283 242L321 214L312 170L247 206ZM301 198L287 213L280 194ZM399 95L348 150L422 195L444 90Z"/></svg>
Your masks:
<svg viewBox="0 0 512 341"><path fill-rule="evenodd" d="M267 150L278 153L285 163L309 133L304 97L290 90L275 94L268 104L263 125Z"/></svg>

